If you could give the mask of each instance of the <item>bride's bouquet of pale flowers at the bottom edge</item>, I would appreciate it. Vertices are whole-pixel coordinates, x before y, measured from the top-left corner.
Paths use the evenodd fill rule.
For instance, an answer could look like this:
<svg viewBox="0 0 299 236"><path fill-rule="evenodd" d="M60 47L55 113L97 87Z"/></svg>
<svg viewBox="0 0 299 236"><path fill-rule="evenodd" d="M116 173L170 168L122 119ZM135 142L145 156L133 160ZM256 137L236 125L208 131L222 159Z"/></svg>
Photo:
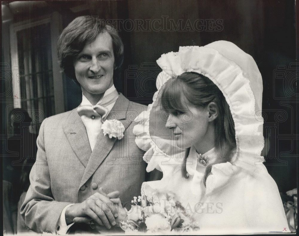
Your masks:
<svg viewBox="0 0 299 236"><path fill-rule="evenodd" d="M174 199L171 193L152 193L134 197L128 220L120 222L126 232L170 233L199 230L198 223L186 213L184 207Z"/></svg>

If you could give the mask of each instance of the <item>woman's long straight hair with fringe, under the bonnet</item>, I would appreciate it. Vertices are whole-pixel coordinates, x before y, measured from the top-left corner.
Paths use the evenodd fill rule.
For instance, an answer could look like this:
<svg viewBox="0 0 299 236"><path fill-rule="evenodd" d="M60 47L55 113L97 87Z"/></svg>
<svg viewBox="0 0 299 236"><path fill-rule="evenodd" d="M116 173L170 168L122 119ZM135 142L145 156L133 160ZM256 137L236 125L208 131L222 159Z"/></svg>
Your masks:
<svg viewBox="0 0 299 236"><path fill-rule="evenodd" d="M228 103L222 92L208 77L195 73L185 72L170 83L165 84L162 93L163 109L170 113L185 111L186 99L196 107L206 107L210 102L215 102L218 107L218 116L214 120L215 124L215 149L219 152L216 162L207 166L204 183L211 172L212 165L231 161L231 151L236 148L235 126ZM185 152L182 166L182 175L188 178L186 161L190 148Z"/></svg>

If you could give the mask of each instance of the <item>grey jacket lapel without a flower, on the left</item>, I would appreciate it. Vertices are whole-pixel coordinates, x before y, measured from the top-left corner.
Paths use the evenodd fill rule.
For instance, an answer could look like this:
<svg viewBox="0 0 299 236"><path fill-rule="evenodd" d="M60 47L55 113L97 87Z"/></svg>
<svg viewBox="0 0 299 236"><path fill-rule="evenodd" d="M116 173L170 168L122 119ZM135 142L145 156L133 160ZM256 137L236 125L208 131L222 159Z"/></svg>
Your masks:
<svg viewBox="0 0 299 236"><path fill-rule="evenodd" d="M86 128L77 113L77 109L74 109L71 112L68 116L68 120L63 124L62 128L73 151L84 167L86 167L91 155L91 148Z"/></svg>

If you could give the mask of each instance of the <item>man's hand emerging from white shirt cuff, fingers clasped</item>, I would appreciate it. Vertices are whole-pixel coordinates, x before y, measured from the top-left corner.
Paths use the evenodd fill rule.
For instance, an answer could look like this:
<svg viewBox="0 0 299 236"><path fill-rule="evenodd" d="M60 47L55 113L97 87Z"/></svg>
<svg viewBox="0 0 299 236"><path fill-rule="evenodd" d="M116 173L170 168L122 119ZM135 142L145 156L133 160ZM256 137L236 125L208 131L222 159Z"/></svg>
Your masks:
<svg viewBox="0 0 299 236"><path fill-rule="evenodd" d="M117 195L119 192L112 192ZM118 212L113 202L109 199L108 195L101 193L94 193L84 202L74 204L68 207L65 211L66 223L89 223L93 220L100 226L105 226L110 229L115 226L115 217L118 217Z"/></svg>

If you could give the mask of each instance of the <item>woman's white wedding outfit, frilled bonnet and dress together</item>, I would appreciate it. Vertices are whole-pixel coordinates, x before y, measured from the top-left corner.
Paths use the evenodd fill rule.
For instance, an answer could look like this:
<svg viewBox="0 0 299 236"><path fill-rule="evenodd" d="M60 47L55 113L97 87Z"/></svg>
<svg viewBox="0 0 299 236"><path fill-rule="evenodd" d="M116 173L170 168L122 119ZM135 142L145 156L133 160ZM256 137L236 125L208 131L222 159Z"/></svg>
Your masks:
<svg viewBox="0 0 299 236"><path fill-rule="evenodd" d="M136 118L139 123L133 132L136 144L147 151L144 155L147 171L161 170L163 178L144 182L141 193L150 197L157 190L175 191L178 200L190 213L193 211L193 217L200 223L200 234L269 233L283 229L289 232L277 185L260 156L264 145L263 87L253 58L233 43L217 41L204 47L180 47L179 52L163 54L157 63L162 68L156 81L158 91L148 110ZM150 132L150 117L155 102L159 102L159 92L170 78L184 72L205 75L219 87L235 124L237 147L233 158L231 162L212 166L206 186L203 183L206 167L197 166L201 164L192 147L187 158L191 164L186 165L189 174L186 179L181 174L184 150L168 155L169 140L156 138ZM204 155L218 154L212 149ZM202 211L197 212L195 206L199 203ZM206 214L211 213L209 204L213 203L215 214Z"/></svg>

